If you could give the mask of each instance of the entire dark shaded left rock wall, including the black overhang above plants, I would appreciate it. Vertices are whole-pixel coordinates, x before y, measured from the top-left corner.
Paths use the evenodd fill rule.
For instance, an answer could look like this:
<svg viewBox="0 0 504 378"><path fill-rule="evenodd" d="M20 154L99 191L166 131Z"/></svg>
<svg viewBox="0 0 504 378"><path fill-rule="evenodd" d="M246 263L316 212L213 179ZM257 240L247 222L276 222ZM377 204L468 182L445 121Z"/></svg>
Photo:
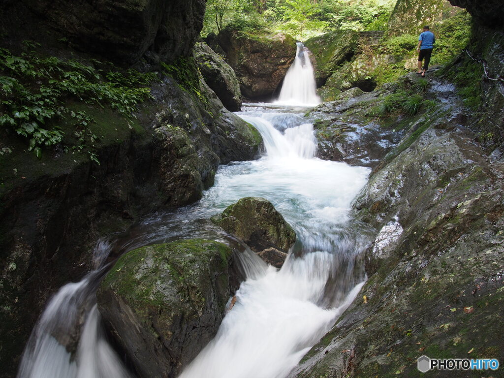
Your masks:
<svg viewBox="0 0 504 378"><path fill-rule="evenodd" d="M190 54L204 2L7 1L0 8L2 46L15 49L33 39L42 44L42 56L82 61L105 56L127 65L142 56L152 63ZM47 298L93 267L91 251L99 237L149 212L198 200L220 163L256 156L259 133L223 108L198 76L194 59L183 59L193 73L191 90L151 64L160 81L152 84L153 99L133 121L72 100L105 135L95 142L100 165L86 152L65 153L64 146L37 160L19 143L3 157L0 376L15 375Z"/></svg>

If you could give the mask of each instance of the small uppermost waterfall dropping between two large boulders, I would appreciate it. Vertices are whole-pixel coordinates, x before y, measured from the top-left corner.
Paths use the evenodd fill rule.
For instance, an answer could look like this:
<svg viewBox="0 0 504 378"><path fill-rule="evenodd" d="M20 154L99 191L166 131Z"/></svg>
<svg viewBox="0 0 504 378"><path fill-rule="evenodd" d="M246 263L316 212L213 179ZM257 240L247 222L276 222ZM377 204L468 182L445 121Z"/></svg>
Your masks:
<svg viewBox="0 0 504 378"><path fill-rule="evenodd" d="M277 104L309 105L321 103L317 96L317 85L313 76L313 67L306 47L297 42L296 57L285 75Z"/></svg>

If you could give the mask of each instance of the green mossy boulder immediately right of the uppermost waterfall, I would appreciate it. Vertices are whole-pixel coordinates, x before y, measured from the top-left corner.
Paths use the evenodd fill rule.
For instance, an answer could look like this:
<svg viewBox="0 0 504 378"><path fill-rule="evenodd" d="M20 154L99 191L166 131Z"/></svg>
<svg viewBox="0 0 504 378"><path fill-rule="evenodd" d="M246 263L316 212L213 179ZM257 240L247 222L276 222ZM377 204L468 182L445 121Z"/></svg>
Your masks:
<svg viewBox="0 0 504 378"><path fill-rule="evenodd" d="M318 87L326 84L331 74L354 56L358 42L359 34L353 30L336 30L304 42L314 60Z"/></svg>

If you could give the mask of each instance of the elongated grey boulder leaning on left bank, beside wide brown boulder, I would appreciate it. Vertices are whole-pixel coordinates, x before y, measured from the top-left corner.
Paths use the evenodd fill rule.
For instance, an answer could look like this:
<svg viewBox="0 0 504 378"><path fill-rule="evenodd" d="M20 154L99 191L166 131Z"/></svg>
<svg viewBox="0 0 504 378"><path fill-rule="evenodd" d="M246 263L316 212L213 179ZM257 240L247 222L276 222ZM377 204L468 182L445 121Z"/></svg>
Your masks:
<svg viewBox="0 0 504 378"><path fill-rule="evenodd" d="M231 66L206 43L197 42L193 53L210 89L228 110L239 111L241 108L240 85Z"/></svg>

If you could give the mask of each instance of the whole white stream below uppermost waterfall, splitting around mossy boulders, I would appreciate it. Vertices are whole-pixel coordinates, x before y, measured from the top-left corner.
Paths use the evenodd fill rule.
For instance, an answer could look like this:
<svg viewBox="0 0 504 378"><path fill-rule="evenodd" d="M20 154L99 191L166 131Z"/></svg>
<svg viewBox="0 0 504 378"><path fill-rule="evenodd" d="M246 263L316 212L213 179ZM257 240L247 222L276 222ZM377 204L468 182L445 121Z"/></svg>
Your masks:
<svg viewBox="0 0 504 378"><path fill-rule="evenodd" d="M296 61L302 52L308 67L301 48ZM299 101L314 100L314 87L312 95ZM201 219L246 196L270 200L296 231L296 244L279 271L267 268L249 249L239 254L247 279L236 293L236 304L214 340L180 377L285 377L364 280L366 241L348 227L348 211L369 169L316 158L313 127L303 112L255 106L238 113L260 131L266 155L220 167L215 185L198 204L153 216L100 243L94 253L97 270L62 287L49 301L26 346L18 378L134 376L107 343L96 307L96 289L109 268L107 256L182 237L236 243Z"/></svg>

